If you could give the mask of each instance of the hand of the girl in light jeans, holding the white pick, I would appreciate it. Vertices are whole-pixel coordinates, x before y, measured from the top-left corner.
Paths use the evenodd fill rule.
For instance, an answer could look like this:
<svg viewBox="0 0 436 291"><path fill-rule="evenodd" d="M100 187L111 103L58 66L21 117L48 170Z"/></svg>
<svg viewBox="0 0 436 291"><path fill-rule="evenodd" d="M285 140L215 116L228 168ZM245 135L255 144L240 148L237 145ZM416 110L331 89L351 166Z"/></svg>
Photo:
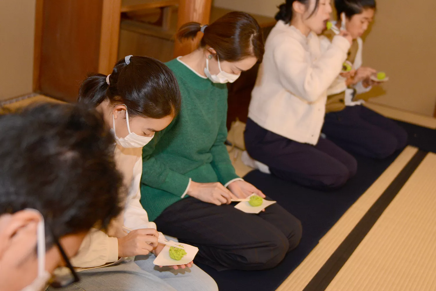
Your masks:
<svg viewBox="0 0 436 291"><path fill-rule="evenodd" d="M118 257L148 255L157 247L159 233L153 228L135 229L118 238Z"/></svg>

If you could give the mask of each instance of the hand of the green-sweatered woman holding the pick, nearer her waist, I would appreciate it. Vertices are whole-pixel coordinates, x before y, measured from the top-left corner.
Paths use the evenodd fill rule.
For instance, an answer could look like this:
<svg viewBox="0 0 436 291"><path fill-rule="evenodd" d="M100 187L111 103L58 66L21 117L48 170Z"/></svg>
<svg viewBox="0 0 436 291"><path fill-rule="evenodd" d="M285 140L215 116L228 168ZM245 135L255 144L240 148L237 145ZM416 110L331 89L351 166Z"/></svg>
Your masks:
<svg viewBox="0 0 436 291"><path fill-rule="evenodd" d="M225 188L221 183L197 183L191 181L187 195L197 198L203 202L216 205L230 204L232 199L237 199L232 192Z"/></svg>

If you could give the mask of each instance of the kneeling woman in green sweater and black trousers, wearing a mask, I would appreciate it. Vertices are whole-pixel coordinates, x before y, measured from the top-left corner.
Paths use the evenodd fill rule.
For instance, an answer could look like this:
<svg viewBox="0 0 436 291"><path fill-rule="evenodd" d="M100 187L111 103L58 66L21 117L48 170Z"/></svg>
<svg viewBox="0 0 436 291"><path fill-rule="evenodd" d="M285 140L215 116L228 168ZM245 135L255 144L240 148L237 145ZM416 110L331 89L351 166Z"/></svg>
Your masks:
<svg viewBox="0 0 436 291"><path fill-rule="evenodd" d="M231 12L210 25L185 24L177 36L200 31L197 50L167 63L181 112L143 147L141 203L161 231L198 246L198 262L217 270L272 268L300 242L300 221L278 204L259 215L229 205L265 195L235 174L224 144L225 83L262 62L262 31L249 14Z"/></svg>

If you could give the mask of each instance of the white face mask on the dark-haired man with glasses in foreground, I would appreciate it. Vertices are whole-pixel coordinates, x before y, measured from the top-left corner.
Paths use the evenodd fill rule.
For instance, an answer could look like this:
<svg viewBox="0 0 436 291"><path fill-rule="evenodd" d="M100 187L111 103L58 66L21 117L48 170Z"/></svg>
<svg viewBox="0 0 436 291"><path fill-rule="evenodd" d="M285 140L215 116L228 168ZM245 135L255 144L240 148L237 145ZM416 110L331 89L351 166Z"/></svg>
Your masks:
<svg viewBox="0 0 436 291"><path fill-rule="evenodd" d="M28 209L34 210L34 209ZM34 210L37 211L37 210ZM39 211L37 211L39 213ZM40 213L41 214L41 213ZM37 260L38 260L38 275L35 280L21 289L21 291L41 291L47 287L47 281L50 279L51 274L45 270L45 229L44 218L41 215L41 221L37 226Z"/></svg>

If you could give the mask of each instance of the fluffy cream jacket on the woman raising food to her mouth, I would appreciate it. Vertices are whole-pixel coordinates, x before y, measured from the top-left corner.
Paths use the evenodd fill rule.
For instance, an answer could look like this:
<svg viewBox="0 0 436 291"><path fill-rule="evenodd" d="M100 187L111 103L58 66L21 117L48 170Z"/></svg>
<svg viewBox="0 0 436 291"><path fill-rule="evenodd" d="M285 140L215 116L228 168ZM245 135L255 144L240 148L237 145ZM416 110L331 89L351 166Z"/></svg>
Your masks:
<svg viewBox="0 0 436 291"><path fill-rule="evenodd" d="M249 117L261 127L300 143L317 144L327 88L341 72L350 43L336 36L321 53L320 41L278 21L252 91Z"/></svg>

